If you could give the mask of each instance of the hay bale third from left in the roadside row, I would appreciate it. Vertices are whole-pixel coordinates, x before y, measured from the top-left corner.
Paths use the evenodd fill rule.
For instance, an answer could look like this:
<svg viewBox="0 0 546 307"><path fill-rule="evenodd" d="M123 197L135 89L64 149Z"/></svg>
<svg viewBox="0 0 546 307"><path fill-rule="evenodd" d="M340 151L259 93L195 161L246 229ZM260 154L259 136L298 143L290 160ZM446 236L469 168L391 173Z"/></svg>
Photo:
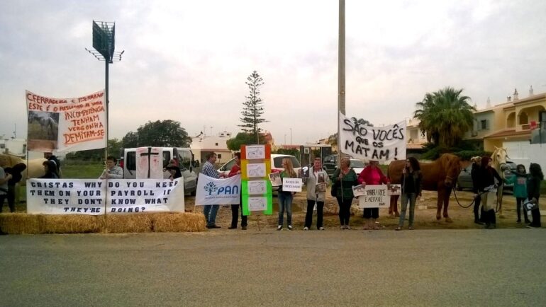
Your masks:
<svg viewBox="0 0 546 307"><path fill-rule="evenodd" d="M108 214L105 232L145 233L152 231L151 214Z"/></svg>

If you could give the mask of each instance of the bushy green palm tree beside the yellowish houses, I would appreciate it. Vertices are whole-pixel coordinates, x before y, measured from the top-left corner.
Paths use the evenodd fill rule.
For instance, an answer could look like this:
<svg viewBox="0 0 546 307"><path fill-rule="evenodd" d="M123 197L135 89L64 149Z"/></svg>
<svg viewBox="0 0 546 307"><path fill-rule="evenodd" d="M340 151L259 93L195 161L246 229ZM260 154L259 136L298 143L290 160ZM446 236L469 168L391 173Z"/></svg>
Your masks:
<svg viewBox="0 0 546 307"><path fill-rule="evenodd" d="M414 116L420 120L419 128L427 134L428 141L452 147L472 129L476 108L468 103L470 98L461 93L462 89L448 86L432 94L426 93L416 104L418 110Z"/></svg>

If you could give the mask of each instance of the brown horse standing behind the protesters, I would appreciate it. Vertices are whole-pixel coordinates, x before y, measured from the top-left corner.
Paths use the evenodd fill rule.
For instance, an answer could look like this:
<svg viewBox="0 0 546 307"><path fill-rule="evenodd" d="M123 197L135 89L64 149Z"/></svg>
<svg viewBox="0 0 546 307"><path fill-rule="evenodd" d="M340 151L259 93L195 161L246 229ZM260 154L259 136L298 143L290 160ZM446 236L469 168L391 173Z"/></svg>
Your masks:
<svg viewBox="0 0 546 307"><path fill-rule="evenodd" d="M402 170L406 164L405 160L392 161L387 170L391 183L401 183ZM452 222L452 219L447 214L447 207L450 204L451 190L457 183L457 177L461 172L461 159L454 154L442 154L440 158L432 163L420 163L421 173L423 174L423 180L421 185L423 190L438 191L438 202L436 212L436 219L440 220L442 216L442 207L444 208L444 218L448 223ZM399 196L391 196L391 205L398 202Z"/></svg>

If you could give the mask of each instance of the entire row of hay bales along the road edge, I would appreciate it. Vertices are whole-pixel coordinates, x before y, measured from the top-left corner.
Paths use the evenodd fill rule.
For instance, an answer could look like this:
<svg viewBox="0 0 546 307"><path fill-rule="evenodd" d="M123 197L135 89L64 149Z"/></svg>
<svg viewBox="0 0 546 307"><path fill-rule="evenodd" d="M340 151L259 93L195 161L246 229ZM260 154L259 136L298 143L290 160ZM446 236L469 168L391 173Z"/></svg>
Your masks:
<svg viewBox="0 0 546 307"><path fill-rule="evenodd" d="M145 213L107 216L0 214L0 233L140 233L205 231L203 214Z"/></svg>

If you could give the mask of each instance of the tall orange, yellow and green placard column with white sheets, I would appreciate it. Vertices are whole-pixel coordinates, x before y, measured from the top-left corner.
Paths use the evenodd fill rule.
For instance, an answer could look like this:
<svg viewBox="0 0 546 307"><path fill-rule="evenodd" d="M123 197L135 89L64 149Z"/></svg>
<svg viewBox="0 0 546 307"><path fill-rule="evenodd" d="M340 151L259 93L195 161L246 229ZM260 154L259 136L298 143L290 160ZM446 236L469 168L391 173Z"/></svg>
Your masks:
<svg viewBox="0 0 546 307"><path fill-rule="evenodd" d="M259 230L260 214L271 215L273 213L269 173L271 173L271 146L268 144L242 145L241 193L243 214L256 214Z"/></svg>

